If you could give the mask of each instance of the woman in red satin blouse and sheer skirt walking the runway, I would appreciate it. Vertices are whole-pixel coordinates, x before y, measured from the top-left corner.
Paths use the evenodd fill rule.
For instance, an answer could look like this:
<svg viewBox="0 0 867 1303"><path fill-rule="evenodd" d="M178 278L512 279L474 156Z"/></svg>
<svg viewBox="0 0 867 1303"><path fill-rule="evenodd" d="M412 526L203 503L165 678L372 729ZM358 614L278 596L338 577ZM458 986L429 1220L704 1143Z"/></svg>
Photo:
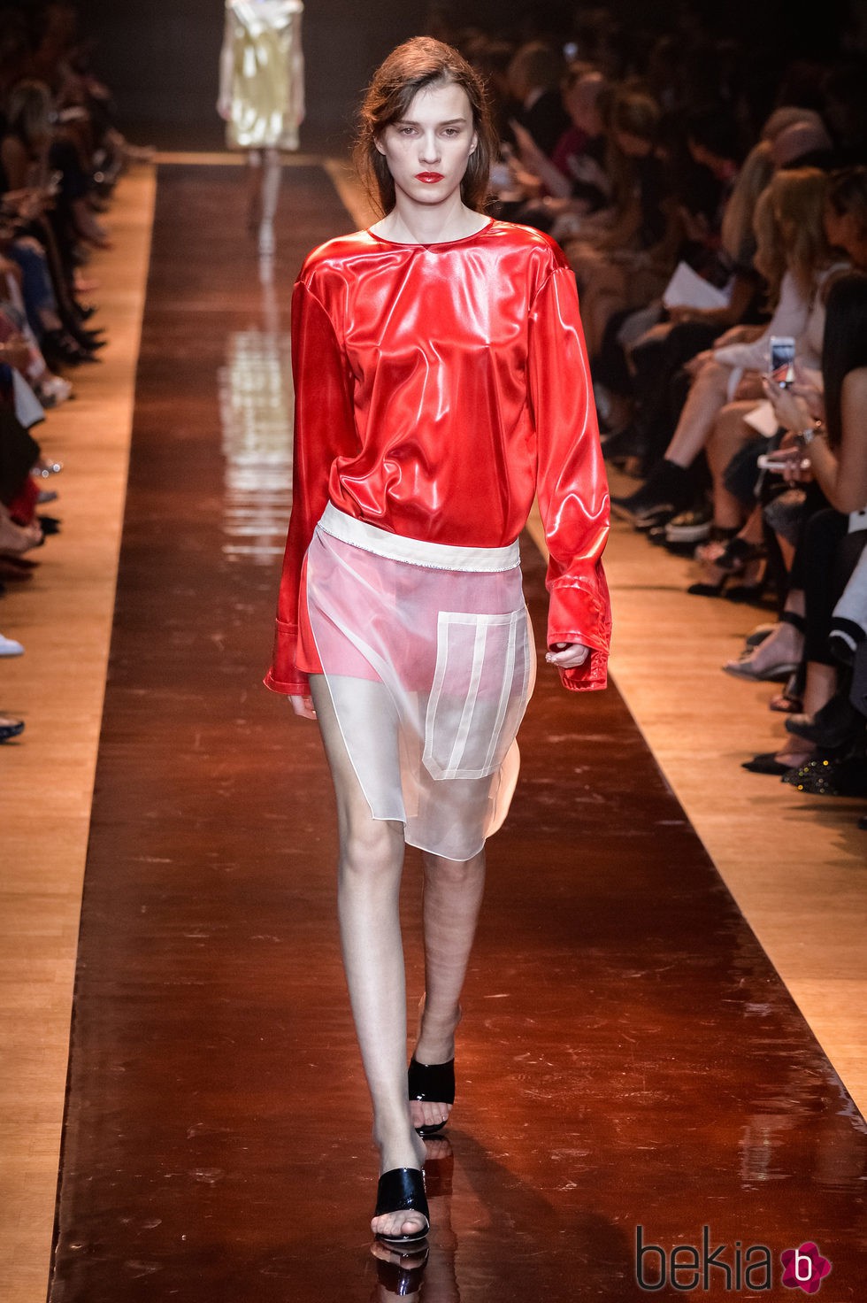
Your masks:
<svg viewBox="0 0 867 1303"><path fill-rule="evenodd" d="M266 679L316 718L337 795L338 913L374 1105L372 1230L430 1229L423 1136L454 1100L484 840L517 778L534 652L517 538L551 551L547 661L603 688L608 493L575 283L491 220L482 86L417 38L374 77L358 160L384 218L314 250L293 296L294 499ZM422 850L426 997L406 1075L398 919Z"/></svg>

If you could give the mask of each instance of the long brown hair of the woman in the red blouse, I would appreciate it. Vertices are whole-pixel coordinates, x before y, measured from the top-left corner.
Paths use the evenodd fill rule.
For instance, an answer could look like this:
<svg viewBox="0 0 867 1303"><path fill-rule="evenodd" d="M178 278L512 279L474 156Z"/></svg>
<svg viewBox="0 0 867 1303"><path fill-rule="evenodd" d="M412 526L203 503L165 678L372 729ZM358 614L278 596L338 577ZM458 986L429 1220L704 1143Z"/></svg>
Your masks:
<svg viewBox="0 0 867 1303"><path fill-rule="evenodd" d="M393 50L374 73L361 107L354 160L362 181L383 212L394 207L394 180L376 141L392 122L400 122L413 96L430 86L453 83L466 91L473 111L476 146L461 181L461 198L470 208L484 210L488 199L491 162L497 138L484 85L478 73L452 46L431 36L414 36Z"/></svg>

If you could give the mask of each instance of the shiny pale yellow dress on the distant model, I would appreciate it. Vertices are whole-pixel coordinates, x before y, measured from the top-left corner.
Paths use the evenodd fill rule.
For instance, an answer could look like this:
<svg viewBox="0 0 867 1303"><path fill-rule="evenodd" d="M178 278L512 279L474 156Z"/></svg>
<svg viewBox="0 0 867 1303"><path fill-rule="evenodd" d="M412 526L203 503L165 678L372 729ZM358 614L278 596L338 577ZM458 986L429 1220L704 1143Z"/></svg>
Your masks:
<svg viewBox="0 0 867 1303"><path fill-rule="evenodd" d="M301 0L225 0L229 149L298 149L305 115L303 8Z"/></svg>

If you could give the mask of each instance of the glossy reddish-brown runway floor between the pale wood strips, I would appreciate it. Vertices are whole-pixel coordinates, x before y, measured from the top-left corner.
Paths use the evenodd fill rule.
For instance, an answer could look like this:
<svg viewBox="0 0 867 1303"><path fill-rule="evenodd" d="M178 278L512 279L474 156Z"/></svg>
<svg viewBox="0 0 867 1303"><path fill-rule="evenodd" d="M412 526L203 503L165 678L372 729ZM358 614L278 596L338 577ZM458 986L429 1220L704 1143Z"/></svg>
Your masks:
<svg viewBox="0 0 867 1303"><path fill-rule="evenodd" d="M232 169L159 175L53 1303L396 1285L370 1255L376 1160L322 748L259 687L286 516L288 285L349 225L318 167L290 185L275 291L240 255ZM531 546L525 560L540 632L542 563ZM824 1296L860 1299L863 1119L618 693L540 675L522 753L489 846L454 1123L431 1145L420 1296L646 1298L642 1227L669 1256L725 1246L712 1296L763 1293L758 1267L737 1282L760 1247L778 1291L780 1255L815 1242ZM418 882L410 855L411 999ZM659 1261L642 1260L646 1283Z"/></svg>

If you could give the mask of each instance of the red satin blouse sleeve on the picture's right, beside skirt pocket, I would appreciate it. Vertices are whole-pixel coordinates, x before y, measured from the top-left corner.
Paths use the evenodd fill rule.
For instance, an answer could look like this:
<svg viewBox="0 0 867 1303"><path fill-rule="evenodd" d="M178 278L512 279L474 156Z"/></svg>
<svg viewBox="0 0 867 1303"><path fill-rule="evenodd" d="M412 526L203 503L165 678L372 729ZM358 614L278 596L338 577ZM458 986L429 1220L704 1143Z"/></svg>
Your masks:
<svg viewBox="0 0 867 1303"><path fill-rule="evenodd" d="M609 532L608 482L578 294L571 270L558 266L542 284L530 314L530 397L536 433L536 496L548 543L548 645L582 642L582 666L562 670L573 692L604 688L611 605L601 567Z"/></svg>

